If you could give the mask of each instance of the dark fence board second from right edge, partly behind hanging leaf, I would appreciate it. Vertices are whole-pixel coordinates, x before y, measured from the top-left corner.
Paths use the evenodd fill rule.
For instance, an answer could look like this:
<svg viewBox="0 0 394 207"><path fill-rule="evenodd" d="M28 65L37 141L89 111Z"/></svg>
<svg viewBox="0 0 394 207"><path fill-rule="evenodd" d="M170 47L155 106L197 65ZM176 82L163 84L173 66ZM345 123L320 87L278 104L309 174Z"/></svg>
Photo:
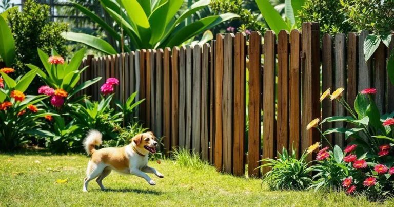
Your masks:
<svg viewBox="0 0 394 207"><path fill-rule="evenodd" d="M385 57L385 48L386 46L381 42L378 49L373 54L373 67L374 67L374 81L373 87L376 88L377 92L375 97L375 103L378 107L380 114L385 114L385 93L384 93L384 86L385 86L385 68L386 68L386 57ZM391 111L389 111L391 112Z"/></svg>

